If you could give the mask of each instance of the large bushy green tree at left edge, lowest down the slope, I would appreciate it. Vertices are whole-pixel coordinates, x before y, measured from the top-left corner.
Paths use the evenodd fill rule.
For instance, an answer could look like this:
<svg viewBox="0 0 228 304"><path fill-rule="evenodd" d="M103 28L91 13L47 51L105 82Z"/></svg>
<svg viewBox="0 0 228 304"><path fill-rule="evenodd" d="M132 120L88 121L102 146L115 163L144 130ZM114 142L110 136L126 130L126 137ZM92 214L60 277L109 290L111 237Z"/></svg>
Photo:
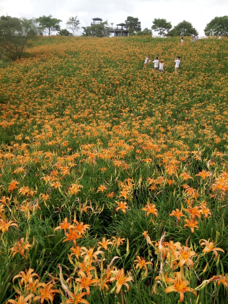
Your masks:
<svg viewBox="0 0 228 304"><path fill-rule="evenodd" d="M20 59L26 46L37 36L34 19L0 17L0 52L6 57Z"/></svg>

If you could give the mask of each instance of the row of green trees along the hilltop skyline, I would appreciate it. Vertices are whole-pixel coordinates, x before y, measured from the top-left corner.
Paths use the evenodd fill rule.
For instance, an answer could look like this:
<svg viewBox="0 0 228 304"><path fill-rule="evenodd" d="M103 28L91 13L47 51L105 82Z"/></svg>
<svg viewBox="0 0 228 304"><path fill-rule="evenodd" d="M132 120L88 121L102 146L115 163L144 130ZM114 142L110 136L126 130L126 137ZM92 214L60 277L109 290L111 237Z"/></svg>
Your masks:
<svg viewBox="0 0 228 304"><path fill-rule="evenodd" d="M10 16L0 17L0 58L1 55L16 60L20 59L24 48L31 45L31 42L44 33L50 36L51 33L57 32L61 36L75 36L80 29L80 20L77 16L70 17L66 22L66 29L61 29L60 19L49 16L40 16L39 18L16 18ZM166 19L154 18L151 29L141 29L141 22L138 18L128 16L125 20L125 28L129 35L150 35L152 30L161 37L165 36L195 36L197 30L191 22L183 20L172 28L171 22ZM109 35L110 26L108 21L92 26L81 27L84 32L82 36L104 37ZM71 31L69 32L68 29ZM205 27L206 36L228 36L228 16L215 17Z"/></svg>

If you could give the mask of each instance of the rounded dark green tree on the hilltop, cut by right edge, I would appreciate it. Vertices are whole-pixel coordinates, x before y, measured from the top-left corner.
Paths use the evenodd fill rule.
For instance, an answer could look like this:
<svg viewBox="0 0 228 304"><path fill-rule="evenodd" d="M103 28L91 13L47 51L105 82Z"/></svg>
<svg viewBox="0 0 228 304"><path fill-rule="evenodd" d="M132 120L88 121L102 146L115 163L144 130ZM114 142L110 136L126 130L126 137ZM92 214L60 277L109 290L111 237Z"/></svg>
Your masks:
<svg viewBox="0 0 228 304"><path fill-rule="evenodd" d="M215 17L205 27L206 36L228 36L228 16Z"/></svg>

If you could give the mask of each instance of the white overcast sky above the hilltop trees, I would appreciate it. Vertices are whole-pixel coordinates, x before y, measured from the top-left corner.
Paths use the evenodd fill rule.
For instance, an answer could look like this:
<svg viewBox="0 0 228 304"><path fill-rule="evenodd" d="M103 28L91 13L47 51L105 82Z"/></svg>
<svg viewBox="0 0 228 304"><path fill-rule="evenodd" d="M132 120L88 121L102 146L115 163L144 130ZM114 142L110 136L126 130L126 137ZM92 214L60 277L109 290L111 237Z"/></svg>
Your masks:
<svg viewBox="0 0 228 304"><path fill-rule="evenodd" d="M92 18L101 18L109 23L125 22L127 16L137 17L141 27L152 26L154 18L164 18L172 26L186 20L197 29L199 36L216 16L228 15L227 0L0 0L0 16L38 18L52 15L61 19L61 29L71 16L78 16L80 26L89 26ZM79 33L83 32L80 30ZM156 34L156 33L155 33Z"/></svg>

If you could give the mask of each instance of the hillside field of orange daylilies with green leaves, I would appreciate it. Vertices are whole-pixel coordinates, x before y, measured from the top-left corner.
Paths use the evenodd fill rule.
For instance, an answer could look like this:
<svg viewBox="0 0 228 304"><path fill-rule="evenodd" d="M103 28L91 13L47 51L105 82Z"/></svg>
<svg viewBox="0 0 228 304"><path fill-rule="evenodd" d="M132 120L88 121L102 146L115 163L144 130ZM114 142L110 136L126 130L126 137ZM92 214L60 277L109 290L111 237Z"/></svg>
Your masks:
<svg viewBox="0 0 228 304"><path fill-rule="evenodd" d="M0 303L227 303L228 39L27 51L0 69Z"/></svg>

